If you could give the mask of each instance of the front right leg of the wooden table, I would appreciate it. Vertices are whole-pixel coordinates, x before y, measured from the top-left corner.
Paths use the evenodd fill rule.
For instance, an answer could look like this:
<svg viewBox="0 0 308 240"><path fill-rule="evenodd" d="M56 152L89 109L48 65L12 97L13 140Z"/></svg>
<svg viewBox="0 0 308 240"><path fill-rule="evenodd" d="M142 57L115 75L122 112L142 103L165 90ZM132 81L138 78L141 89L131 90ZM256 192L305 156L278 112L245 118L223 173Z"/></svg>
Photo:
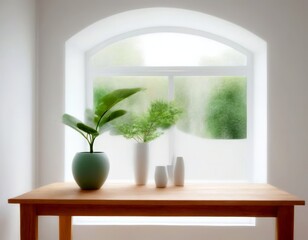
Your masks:
<svg viewBox="0 0 308 240"><path fill-rule="evenodd" d="M294 206L279 207L276 228L277 240L294 239Z"/></svg>

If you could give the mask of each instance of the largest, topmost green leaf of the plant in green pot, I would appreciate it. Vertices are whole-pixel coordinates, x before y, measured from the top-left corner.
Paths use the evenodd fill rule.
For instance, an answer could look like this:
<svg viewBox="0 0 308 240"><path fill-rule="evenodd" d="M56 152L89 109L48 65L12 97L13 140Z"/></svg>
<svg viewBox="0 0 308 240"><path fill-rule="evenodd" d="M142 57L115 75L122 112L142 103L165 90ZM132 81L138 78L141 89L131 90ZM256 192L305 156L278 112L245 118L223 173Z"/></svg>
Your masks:
<svg viewBox="0 0 308 240"><path fill-rule="evenodd" d="M110 110L113 106L117 103L121 102L122 100L128 98L129 96L144 90L143 88L123 88L117 89L108 93L107 95L103 96L99 99L98 104L95 109L95 114L98 118L95 118L96 123L100 121L101 117L106 114L108 110Z"/></svg>

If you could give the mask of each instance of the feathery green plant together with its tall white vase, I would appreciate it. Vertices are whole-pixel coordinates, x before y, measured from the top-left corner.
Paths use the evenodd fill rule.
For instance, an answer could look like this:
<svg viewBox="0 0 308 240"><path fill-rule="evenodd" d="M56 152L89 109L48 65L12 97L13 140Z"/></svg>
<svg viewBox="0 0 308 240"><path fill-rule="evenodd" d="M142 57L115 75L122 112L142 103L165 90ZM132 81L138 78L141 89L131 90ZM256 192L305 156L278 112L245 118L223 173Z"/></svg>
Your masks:
<svg viewBox="0 0 308 240"><path fill-rule="evenodd" d="M135 139L135 182L145 185L148 178L148 143L174 125L182 110L174 102L163 100L153 101L148 110L141 115L132 115L116 125L116 134L128 139Z"/></svg>

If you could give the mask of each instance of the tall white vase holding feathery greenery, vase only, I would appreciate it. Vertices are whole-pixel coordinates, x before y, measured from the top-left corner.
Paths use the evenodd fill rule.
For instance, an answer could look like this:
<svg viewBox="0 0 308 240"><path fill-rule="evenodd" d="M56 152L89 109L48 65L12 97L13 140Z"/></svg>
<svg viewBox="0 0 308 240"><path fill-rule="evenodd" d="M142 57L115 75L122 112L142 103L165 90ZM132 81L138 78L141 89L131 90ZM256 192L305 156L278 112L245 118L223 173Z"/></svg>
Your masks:
<svg viewBox="0 0 308 240"><path fill-rule="evenodd" d="M146 185L149 172L149 144L137 143L135 148L135 183L136 185Z"/></svg>

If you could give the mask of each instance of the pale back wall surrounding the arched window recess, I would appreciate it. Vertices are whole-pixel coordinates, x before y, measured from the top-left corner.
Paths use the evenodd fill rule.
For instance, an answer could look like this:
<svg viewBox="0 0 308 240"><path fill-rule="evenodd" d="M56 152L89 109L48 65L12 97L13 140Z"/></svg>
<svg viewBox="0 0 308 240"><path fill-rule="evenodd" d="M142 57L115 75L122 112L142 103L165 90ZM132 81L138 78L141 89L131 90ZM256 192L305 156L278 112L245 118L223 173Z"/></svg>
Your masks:
<svg viewBox="0 0 308 240"><path fill-rule="evenodd" d="M308 6L305 0L40 0L39 25L39 184L64 177L64 43L88 25L113 14L145 7L204 12L243 26L268 43L268 179L308 199ZM308 236L308 208L296 210L295 237ZM273 239L272 220L256 228L74 227L76 239L101 231L97 239ZM98 228L98 229L97 229ZM185 234L182 230L185 229ZM55 228L40 232L54 239ZM136 233L139 233L136 235ZM92 240L96 235L91 236Z"/></svg>

